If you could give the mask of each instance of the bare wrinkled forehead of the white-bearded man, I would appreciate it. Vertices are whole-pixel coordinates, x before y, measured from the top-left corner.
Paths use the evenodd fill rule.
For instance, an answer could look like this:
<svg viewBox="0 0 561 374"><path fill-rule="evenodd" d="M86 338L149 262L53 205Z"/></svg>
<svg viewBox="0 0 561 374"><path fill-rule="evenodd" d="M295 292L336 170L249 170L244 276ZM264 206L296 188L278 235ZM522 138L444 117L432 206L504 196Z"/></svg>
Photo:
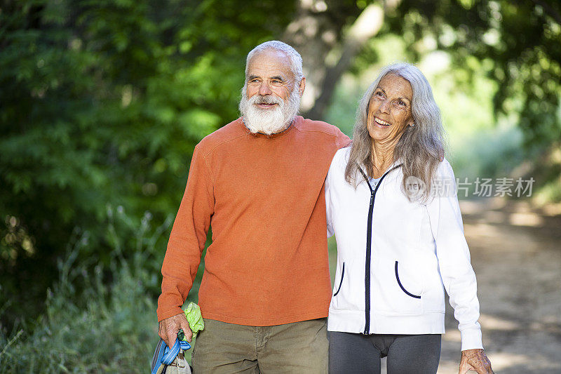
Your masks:
<svg viewBox="0 0 561 374"><path fill-rule="evenodd" d="M289 79L294 77L288 55L273 48L268 48L253 55L248 62L247 72L247 76L260 76L262 78L270 78L276 75Z"/></svg>

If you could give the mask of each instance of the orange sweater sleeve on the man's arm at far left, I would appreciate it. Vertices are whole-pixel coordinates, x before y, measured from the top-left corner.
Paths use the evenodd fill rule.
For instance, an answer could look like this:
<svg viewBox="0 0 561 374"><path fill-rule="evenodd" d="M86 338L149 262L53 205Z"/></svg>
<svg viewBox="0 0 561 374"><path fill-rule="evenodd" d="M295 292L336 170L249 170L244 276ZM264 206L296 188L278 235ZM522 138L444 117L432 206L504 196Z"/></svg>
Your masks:
<svg viewBox="0 0 561 374"><path fill-rule="evenodd" d="M163 259L158 321L182 313L181 307L193 286L214 213L210 168L199 146L195 147L191 159L187 187Z"/></svg>

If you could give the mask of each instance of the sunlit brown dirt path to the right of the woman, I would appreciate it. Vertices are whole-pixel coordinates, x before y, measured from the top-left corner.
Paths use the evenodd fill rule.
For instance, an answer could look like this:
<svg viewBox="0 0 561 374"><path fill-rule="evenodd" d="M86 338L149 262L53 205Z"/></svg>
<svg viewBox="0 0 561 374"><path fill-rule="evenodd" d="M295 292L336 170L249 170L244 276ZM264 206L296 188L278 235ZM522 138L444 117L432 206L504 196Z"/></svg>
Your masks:
<svg viewBox="0 0 561 374"><path fill-rule="evenodd" d="M496 373L561 373L561 215L520 201L462 201L483 344ZM438 373L458 373L447 305Z"/></svg>

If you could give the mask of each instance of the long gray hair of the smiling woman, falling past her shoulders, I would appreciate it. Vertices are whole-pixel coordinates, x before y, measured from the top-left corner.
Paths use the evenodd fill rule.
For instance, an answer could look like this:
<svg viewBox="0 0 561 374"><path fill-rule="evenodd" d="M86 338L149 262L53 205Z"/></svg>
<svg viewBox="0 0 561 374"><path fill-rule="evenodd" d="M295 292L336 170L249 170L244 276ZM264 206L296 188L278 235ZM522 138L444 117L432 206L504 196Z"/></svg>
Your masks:
<svg viewBox="0 0 561 374"><path fill-rule="evenodd" d="M431 192L431 185L435 177L436 168L440 159L445 154L445 131L442 127L440 110L433 98L431 85L417 67L405 62L388 65L381 69L377 79L372 82L360 99L353 131L353 145L349 163L345 169L345 180L356 186L362 181L359 168L363 167L368 175L372 175L372 138L368 133L367 117L368 105L372 93L377 88L380 80L387 74L396 74L409 81L413 90L411 111L415 126L407 126L401 135L396 148L393 150L393 159L402 163L403 193L410 200L412 197L406 193L406 180L413 176L423 183L423 191L418 197L426 201Z"/></svg>

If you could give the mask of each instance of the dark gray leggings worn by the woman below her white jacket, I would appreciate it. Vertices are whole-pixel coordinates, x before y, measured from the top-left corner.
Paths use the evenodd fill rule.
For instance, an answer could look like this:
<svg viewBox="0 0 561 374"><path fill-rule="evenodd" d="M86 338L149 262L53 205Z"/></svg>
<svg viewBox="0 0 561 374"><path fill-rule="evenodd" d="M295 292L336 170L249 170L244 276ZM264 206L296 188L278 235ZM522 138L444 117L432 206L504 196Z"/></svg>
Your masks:
<svg viewBox="0 0 561 374"><path fill-rule="evenodd" d="M329 372L380 373L388 356L388 374L435 374L440 361L440 334L363 335L329 331Z"/></svg>

